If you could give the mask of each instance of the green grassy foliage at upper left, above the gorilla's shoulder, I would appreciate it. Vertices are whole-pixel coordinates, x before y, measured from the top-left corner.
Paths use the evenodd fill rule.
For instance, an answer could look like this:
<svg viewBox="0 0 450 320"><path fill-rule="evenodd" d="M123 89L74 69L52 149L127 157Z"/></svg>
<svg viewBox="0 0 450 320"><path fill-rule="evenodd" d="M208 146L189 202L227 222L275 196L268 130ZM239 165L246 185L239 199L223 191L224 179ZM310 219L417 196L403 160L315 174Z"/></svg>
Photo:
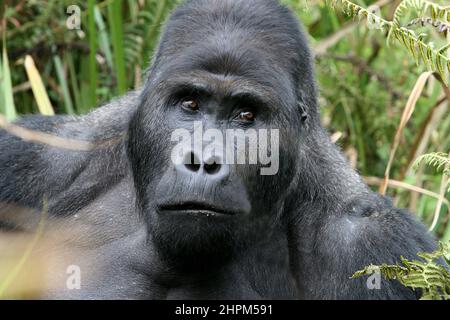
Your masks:
<svg viewBox="0 0 450 320"><path fill-rule="evenodd" d="M0 24L0 34L7 40L14 66L11 83L12 89L18 87L14 94L18 113L37 111L32 95L24 90L26 54L36 62L57 113L86 113L138 88L161 26L178 2L34 0L17 6L9 2L1 17L7 21L6 29ZM81 9L80 30L66 26L71 5Z"/></svg>

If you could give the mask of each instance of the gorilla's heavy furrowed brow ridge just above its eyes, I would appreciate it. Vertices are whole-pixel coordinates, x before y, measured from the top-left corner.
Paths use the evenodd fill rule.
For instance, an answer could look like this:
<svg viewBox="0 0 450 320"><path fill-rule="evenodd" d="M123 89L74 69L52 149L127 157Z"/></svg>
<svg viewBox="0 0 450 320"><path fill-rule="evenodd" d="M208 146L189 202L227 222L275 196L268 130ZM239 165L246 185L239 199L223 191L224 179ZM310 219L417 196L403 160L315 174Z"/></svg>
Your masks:
<svg viewBox="0 0 450 320"><path fill-rule="evenodd" d="M249 94L272 108L288 108L295 103L295 90L289 76L261 57L249 57L242 51L223 53L187 50L172 64L159 69L150 83L159 94L182 88L198 88L217 98ZM152 86L147 90L152 91Z"/></svg>

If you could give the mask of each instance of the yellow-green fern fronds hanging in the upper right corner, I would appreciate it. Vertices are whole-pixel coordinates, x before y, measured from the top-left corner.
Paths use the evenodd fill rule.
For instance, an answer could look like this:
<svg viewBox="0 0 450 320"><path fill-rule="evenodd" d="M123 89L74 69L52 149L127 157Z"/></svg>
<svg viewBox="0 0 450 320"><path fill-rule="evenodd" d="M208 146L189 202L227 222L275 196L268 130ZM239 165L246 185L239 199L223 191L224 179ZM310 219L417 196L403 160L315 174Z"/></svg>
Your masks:
<svg viewBox="0 0 450 320"><path fill-rule="evenodd" d="M429 70L439 73L443 79L448 79L450 71L450 59L445 53L450 44L445 44L441 48L434 48L433 42L425 43L425 33L416 34L414 30L402 26L401 18L410 11L414 11L419 16L431 13L431 18L436 21L442 19L444 22L450 21L450 7L443 7L426 0L404 0L400 3L394 13L392 21L387 21L375 13L365 9L348 0L333 0L333 5L338 4L344 7L344 12L352 17L364 17L372 25L381 31L388 31L388 39L395 38L413 56L417 63L422 61Z"/></svg>

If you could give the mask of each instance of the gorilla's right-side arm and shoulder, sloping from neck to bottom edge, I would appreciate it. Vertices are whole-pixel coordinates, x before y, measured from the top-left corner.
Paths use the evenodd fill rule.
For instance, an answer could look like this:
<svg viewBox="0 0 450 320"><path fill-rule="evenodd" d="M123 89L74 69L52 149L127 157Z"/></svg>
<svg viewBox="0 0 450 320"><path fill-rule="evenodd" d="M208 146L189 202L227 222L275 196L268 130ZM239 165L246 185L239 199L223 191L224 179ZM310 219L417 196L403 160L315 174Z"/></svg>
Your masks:
<svg viewBox="0 0 450 320"><path fill-rule="evenodd" d="M411 213L371 192L325 133L317 138L308 144L320 148L302 147L308 160L302 164L306 168L299 185L309 187L299 187L303 191L292 207L289 226L300 297L415 299L414 291L397 281L383 278L380 289L371 290L367 278L350 277L370 264L395 264L401 256L417 259L418 252L436 248L432 236Z"/></svg>

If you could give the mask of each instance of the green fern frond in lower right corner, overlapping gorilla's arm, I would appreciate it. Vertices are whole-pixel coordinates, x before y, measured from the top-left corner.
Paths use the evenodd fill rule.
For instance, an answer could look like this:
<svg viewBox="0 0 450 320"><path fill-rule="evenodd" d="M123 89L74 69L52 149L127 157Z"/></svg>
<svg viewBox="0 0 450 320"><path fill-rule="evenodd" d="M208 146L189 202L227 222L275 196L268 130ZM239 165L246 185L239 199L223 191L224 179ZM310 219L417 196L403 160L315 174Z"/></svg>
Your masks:
<svg viewBox="0 0 450 320"><path fill-rule="evenodd" d="M450 299L450 245L440 243L439 250L433 253L418 253L422 260L409 261L401 257L402 265L370 265L355 272L352 278L371 275L379 271L385 279L397 280L414 290L420 289L421 299Z"/></svg>

